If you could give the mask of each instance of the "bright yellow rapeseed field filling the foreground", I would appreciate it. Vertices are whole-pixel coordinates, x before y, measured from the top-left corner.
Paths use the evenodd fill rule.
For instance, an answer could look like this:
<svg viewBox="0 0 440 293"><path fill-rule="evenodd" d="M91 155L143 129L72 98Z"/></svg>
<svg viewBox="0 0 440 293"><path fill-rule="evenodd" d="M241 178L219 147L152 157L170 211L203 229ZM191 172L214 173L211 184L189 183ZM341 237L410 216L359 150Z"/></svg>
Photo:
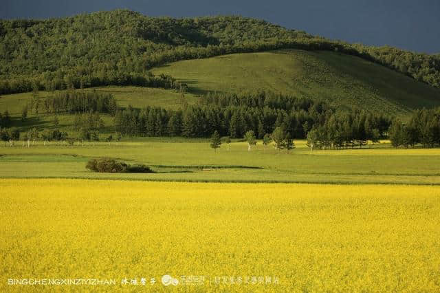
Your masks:
<svg viewBox="0 0 440 293"><path fill-rule="evenodd" d="M0 180L0 226L0 292L440 291L439 186Z"/></svg>

